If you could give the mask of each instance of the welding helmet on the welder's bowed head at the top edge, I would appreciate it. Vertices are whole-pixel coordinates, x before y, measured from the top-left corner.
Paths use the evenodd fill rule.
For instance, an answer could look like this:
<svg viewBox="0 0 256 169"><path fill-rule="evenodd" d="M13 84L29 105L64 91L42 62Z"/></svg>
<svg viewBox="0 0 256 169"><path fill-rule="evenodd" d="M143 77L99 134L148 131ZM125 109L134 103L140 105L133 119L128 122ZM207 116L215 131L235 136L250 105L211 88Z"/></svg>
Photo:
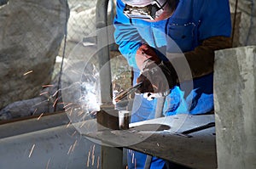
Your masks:
<svg viewBox="0 0 256 169"><path fill-rule="evenodd" d="M168 0L122 0L128 18L154 20L164 11Z"/></svg>

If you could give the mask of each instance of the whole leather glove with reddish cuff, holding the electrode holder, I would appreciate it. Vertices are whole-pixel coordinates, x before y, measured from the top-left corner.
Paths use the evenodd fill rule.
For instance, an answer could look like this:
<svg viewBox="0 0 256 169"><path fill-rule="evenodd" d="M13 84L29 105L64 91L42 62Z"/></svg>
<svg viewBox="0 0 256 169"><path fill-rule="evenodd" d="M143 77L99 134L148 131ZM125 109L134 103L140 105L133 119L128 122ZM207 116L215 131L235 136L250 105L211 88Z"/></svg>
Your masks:
<svg viewBox="0 0 256 169"><path fill-rule="evenodd" d="M137 66L142 74L137 78L137 83L143 82L138 88L140 93L158 93L166 95L170 88L177 82L176 71L171 63L161 63L160 58L148 44L143 44L137 50Z"/></svg>

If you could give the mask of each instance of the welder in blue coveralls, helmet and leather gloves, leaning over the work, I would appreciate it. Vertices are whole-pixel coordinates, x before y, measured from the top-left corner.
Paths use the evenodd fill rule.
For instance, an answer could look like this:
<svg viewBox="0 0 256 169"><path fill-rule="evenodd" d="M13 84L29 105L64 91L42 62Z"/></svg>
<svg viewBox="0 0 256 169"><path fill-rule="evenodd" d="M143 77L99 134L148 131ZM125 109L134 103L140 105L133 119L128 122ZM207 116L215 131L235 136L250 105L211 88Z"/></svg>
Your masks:
<svg viewBox="0 0 256 169"><path fill-rule="evenodd" d="M143 84L134 99L131 122L154 118L160 97L165 97L162 115L212 111L214 51L231 47L229 1L117 0L116 3L115 42L134 70L133 84ZM178 76L182 72L177 72L177 66L170 61L172 54L173 58L183 54L189 65L193 83L189 93L181 88L188 79ZM170 167L156 157L148 161L139 152L134 152L137 162L132 163L131 156L128 153L129 168Z"/></svg>

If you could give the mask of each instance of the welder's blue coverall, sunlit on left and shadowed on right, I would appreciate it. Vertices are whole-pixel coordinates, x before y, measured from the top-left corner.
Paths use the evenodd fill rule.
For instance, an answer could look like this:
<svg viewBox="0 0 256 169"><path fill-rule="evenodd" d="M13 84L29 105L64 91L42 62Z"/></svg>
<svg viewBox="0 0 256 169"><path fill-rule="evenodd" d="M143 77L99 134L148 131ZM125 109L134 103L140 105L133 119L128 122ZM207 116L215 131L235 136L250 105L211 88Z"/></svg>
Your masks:
<svg viewBox="0 0 256 169"><path fill-rule="evenodd" d="M172 16L156 22L128 19L123 14L124 8L125 4L117 0L114 38L119 45L120 53L135 70L134 80L139 75L135 55L143 43L160 51L160 58L166 59L162 55L165 52L177 53L181 50L186 53L193 51L209 37L230 37L228 0L179 0ZM174 48L173 41L168 40L170 37L179 48ZM213 110L213 73L194 79L193 84L194 88L190 93L184 93L179 86L172 88L171 93L166 97L163 115L181 113L196 115ZM148 101L141 94L136 95L135 100L131 122L154 118L156 99ZM145 156L135 152L137 169L143 168ZM134 168L135 164L131 163L131 153L128 153L128 157L130 157L128 158L129 168ZM150 168L165 168L165 161L153 158Z"/></svg>

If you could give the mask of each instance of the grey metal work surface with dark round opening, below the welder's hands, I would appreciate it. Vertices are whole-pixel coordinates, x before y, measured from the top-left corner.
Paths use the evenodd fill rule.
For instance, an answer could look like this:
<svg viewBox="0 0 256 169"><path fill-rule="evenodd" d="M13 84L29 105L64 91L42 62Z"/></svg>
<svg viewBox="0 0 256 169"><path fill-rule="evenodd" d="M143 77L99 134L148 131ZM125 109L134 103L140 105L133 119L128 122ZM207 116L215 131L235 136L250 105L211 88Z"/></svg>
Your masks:
<svg viewBox="0 0 256 169"><path fill-rule="evenodd" d="M172 115L131 123L128 130L98 132L96 121L85 121L82 134L102 144L134 149L183 166L217 168L215 127L180 134L214 122L214 115ZM86 128L86 129L85 129ZM86 132L87 131L87 132Z"/></svg>

